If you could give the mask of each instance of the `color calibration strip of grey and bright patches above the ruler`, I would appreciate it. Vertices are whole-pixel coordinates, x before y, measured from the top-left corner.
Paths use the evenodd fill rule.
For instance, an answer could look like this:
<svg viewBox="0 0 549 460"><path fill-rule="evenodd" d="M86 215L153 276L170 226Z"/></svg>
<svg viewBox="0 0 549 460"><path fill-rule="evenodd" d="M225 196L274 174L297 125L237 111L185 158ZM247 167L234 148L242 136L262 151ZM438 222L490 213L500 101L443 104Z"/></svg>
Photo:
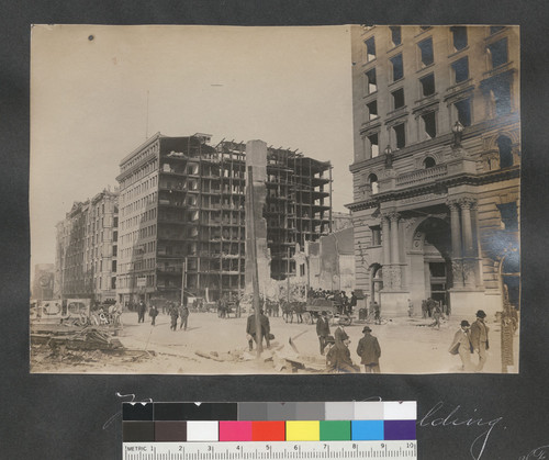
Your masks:
<svg viewBox="0 0 549 460"><path fill-rule="evenodd" d="M406 441L417 406L405 402L124 403L123 441Z"/></svg>

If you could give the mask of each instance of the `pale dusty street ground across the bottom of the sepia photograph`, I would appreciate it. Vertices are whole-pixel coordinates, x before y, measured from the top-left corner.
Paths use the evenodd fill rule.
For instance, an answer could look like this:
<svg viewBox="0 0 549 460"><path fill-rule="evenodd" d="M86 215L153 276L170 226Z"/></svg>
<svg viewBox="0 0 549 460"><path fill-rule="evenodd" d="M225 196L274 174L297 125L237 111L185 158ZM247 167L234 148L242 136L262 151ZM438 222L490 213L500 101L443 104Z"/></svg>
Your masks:
<svg viewBox="0 0 549 460"><path fill-rule="evenodd" d="M460 372L458 356L448 352L453 334L459 328L461 317L451 317L442 322L440 329L429 327L430 319L421 317L399 317L382 325L369 324L372 335L381 346L380 368L382 373L447 373ZM473 318L468 318L472 322ZM282 358L288 352L296 354L289 345L292 338L301 360L311 362L316 372L323 369L324 357L318 350L315 325L285 323L282 317L271 317L270 350L265 350L261 359L256 359L256 351L249 354L246 339L246 316L240 318L220 318L216 313L191 313L187 330L170 329L170 317L159 314L156 326L150 325L150 317L145 323L137 323L137 313L122 314L124 324L119 337L125 348L131 350L154 351L146 358L120 358L105 354L96 355L96 359L68 362L35 362L36 372L89 372L89 373L184 373L184 374L247 374L247 373L291 373L292 367L277 367L278 355ZM490 350L483 372L501 372L500 325L488 323L490 327ZM330 326L330 332L337 326ZM363 324L354 323L346 327L350 337L350 355L355 363L360 359L356 354L362 337ZM509 372L518 371L518 335L514 338L515 367ZM477 362L477 357L472 356ZM285 362L285 361L284 361ZM299 373L312 373L310 367ZM363 370L363 367L361 368Z"/></svg>

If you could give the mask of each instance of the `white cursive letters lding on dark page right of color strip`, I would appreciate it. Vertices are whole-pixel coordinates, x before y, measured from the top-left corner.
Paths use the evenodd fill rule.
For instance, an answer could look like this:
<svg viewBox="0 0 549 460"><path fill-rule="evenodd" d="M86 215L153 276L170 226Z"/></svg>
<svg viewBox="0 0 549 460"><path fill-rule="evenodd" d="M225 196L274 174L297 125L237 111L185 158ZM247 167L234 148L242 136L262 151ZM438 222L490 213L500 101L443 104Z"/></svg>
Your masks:
<svg viewBox="0 0 549 460"><path fill-rule="evenodd" d="M481 427L486 428L479 436L477 436L471 446L469 448L469 452L473 460L480 460L484 450L486 449L488 441L490 439L490 435L492 435L492 430L495 426L503 419L503 417L493 418L491 420L485 420L483 418L477 417L463 417L459 415L461 411L461 405L457 405L453 407L448 415L445 411L442 411L445 403L439 401L436 403L427 414L418 422L418 425L422 427L438 427L438 426L468 426L468 427ZM474 409L473 412L477 412Z"/></svg>

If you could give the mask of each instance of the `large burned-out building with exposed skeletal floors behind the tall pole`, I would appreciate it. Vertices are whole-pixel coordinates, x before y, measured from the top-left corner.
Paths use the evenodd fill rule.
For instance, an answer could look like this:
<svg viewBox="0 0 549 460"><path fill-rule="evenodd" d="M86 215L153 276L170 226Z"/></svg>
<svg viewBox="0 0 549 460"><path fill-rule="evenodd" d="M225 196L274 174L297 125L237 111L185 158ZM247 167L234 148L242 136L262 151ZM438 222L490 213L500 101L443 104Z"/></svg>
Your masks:
<svg viewBox="0 0 549 460"><path fill-rule="evenodd" d="M210 301L245 288L246 144L160 133L121 161L117 294ZM271 278L295 271L296 244L330 231L329 162L268 148L264 217Z"/></svg>

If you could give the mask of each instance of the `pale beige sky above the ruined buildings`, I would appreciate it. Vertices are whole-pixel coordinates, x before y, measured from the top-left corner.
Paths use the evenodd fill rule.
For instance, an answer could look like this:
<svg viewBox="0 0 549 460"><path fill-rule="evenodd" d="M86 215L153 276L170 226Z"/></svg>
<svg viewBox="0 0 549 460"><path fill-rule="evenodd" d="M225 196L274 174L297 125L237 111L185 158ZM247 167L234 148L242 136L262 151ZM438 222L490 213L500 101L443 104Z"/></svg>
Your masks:
<svg viewBox="0 0 549 460"><path fill-rule="evenodd" d="M55 262L55 225L117 183L147 137L262 139L334 166L352 201L348 26L36 25L31 42L31 263Z"/></svg>

